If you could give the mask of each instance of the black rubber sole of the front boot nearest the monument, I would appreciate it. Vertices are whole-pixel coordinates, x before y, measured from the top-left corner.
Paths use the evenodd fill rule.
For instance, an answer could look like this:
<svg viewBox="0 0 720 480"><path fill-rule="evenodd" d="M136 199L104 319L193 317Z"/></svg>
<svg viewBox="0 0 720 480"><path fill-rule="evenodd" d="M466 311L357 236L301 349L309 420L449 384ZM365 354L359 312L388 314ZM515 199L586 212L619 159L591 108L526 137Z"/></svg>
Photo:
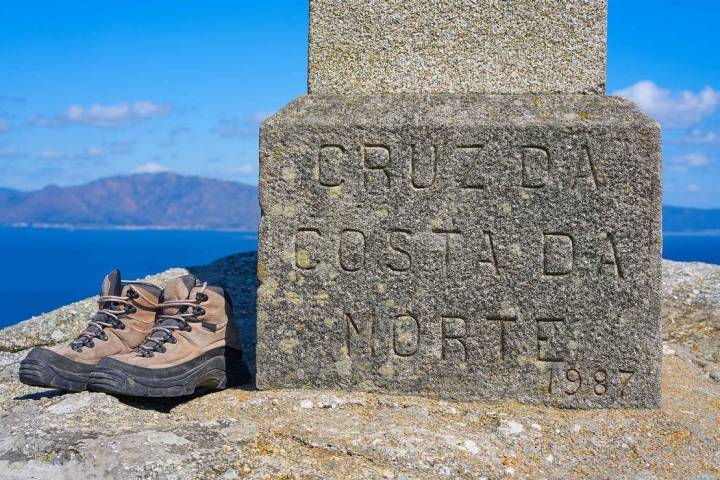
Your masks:
<svg viewBox="0 0 720 480"><path fill-rule="evenodd" d="M221 347L169 368L141 368L105 358L90 375L88 389L130 397L184 397L198 387L222 390L249 381L242 353Z"/></svg>

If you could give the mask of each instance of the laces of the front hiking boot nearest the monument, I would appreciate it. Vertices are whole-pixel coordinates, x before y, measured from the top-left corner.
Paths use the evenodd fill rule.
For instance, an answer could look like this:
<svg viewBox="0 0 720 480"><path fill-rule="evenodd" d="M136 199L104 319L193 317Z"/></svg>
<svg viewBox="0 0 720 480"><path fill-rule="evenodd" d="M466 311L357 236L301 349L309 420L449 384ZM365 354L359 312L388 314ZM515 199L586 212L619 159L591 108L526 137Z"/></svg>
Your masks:
<svg viewBox="0 0 720 480"><path fill-rule="evenodd" d="M172 315L161 314L158 316L155 327L150 330L150 334L145 338L143 344L138 347L140 355L152 357L156 352L165 353L166 342L177 343L174 332L192 331L190 323L198 322L197 317L205 314L205 310L199 305L208 299L205 294L206 288L207 282L203 283L200 291L195 294L195 300L168 300L160 304L160 311L166 308L177 308L178 311Z"/></svg>

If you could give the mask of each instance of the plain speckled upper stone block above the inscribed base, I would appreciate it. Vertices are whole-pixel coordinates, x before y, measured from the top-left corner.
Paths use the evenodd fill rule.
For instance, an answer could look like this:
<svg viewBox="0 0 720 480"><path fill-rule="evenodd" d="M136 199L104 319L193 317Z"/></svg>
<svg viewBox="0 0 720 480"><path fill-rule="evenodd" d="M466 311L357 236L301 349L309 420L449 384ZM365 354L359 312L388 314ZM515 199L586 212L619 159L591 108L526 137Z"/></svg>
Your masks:
<svg viewBox="0 0 720 480"><path fill-rule="evenodd" d="M311 0L312 94L604 93L607 0Z"/></svg>

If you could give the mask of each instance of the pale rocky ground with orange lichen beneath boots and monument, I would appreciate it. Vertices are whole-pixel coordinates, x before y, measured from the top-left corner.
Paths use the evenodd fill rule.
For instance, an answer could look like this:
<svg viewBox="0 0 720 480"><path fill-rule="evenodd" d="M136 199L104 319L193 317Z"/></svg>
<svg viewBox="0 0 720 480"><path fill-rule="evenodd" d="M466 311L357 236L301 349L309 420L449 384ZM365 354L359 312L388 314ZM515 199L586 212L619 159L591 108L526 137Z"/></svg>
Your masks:
<svg viewBox="0 0 720 480"><path fill-rule="evenodd" d="M250 364L254 269L253 255L190 269L232 290ZM0 478L720 479L720 267L664 274L657 411L252 388L138 401L18 383L28 348L82 328L94 303L79 302L0 331Z"/></svg>

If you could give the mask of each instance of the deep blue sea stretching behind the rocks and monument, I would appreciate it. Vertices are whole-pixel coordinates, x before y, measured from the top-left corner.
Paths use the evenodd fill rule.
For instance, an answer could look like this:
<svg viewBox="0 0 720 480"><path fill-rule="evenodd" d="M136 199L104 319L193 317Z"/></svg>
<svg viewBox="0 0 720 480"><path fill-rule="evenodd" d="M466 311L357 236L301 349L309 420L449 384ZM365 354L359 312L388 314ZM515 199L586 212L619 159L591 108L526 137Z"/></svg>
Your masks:
<svg viewBox="0 0 720 480"><path fill-rule="evenodd" d="M97 294L114 268L136 279L256 249L256 233L0 228L0 328ZM720 232L666 234L663 256L720 264Z"/></svg>

